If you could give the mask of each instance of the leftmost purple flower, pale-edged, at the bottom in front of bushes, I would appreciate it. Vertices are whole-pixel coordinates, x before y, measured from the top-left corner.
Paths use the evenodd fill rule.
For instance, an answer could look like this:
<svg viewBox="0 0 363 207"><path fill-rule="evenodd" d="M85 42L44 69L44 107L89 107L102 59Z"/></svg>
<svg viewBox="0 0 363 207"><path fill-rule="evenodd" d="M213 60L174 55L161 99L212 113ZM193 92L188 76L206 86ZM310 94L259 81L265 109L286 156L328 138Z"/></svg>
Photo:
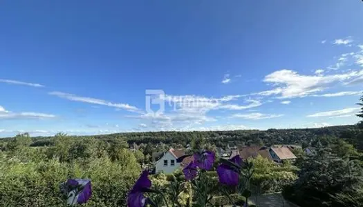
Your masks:
<svg viewBox="0 0 363 207"><path fill-rule="evenodd" d="M67 204L86 204L92 196L92 185L89 179L68 179Z"/></svg>

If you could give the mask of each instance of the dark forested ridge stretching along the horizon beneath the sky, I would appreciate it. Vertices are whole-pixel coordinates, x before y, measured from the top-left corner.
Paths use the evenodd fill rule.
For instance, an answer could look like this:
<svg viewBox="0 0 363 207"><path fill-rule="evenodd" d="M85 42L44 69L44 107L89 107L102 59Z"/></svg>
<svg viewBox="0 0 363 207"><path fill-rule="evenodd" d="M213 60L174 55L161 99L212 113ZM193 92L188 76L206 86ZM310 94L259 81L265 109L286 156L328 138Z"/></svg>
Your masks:
<svg viewBox="0 0 363 207"><path fill-rule="evenodd" d="M168 146L185 147L192 142L207 139L216 147L250 146L273 144L307 144L316 137L338 137L346 139L360 150L363 150L362 132L357 125L331 126L324 128L305 129L269 129L269 130L233 130L205 132L125 132L109 135L72 136L74 138L94 138L112 144L114 139L123 139L129 146L151 144L152 146L166 144ZM12 138L4 138L7 141ZM53 146L54 137L32 137L30 146ZM1 144L0 144L1 147Z"/></svg>

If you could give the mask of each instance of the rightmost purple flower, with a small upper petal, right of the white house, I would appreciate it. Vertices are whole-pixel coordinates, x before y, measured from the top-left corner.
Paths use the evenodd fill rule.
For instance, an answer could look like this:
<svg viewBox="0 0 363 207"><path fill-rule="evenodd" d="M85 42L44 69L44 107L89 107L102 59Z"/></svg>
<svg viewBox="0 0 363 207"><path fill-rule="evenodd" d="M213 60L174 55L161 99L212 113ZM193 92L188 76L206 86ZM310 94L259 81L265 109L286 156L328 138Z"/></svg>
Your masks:
<svg viewBox="0 0 363 207"><path fill-rule="evenodd" d="M242 159L239 155L236 155L230 159L234 164L241 166ZM239 172L236 172L231 166L227 164L220 164L217 167L217 174L219 182L227 186L236 186L239 184Z"/></svg>

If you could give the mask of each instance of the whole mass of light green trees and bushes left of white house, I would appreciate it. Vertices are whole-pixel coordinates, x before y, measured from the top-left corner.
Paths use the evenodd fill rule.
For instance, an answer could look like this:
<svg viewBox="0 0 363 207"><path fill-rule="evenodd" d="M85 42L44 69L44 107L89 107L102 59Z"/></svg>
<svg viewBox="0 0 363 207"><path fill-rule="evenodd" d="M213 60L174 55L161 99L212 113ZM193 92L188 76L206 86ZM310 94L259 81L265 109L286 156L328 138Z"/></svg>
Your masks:
<svg viewBox="0 0 363 207"><path fill-rule="evenodd" d="M30 148L28 138L15 137L0 154L0 206L65 206L59 184L68 178L91 179L93 197L84 206L126 206L141 171L133 152L121 148L113 161L95 139L58 134L55 146Z"/></svg>

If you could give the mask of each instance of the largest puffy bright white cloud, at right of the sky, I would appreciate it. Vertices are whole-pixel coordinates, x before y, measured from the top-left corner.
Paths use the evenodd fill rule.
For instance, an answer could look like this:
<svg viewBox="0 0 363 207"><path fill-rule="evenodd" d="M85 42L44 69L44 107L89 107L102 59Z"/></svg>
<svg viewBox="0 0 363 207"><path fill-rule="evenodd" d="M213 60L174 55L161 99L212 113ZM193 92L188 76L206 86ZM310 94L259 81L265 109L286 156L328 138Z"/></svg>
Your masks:
<svg viewBox="0 0 363 207"><path fill-rule="evenodd" d="M320 92L333 83L348 81L363 75L363 70L336 75L316 76L299 75L293 70L277 70L267 75L263 81L272 83L276 88L257 93L258 95L281 95L278 98L305 97Z"/></svg>

